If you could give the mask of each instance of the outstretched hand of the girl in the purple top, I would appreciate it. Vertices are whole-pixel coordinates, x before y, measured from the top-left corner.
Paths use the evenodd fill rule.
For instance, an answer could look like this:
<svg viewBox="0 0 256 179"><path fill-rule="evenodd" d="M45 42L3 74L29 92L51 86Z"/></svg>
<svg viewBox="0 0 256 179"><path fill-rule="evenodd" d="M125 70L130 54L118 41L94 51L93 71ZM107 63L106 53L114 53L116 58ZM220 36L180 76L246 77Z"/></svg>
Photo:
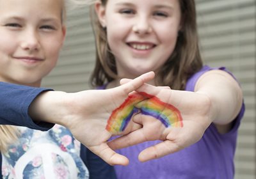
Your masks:
<svg viewBox="0 0 256 179"><path fill-rule="evenodd" d="M161 140L163 142L146 148L138 156L141 162L157 159L196 143L211 124L211 102L204 94L157 88L148 84L139 88L138 91L145 91L149 95L157 97L161 102L171 104L179 109L183 126L173 127L173 124L170 127L165 127L160 120L152 116L136 114L133 122L143 127L110 141L108 144L113 150L124 148L124 144L131 146L145 141ZM136 106L145 106L147 102L150 102L150 99L141 102L143 105L138 103ZM165 113L165 110L163 107L162 113Z"/></svg>

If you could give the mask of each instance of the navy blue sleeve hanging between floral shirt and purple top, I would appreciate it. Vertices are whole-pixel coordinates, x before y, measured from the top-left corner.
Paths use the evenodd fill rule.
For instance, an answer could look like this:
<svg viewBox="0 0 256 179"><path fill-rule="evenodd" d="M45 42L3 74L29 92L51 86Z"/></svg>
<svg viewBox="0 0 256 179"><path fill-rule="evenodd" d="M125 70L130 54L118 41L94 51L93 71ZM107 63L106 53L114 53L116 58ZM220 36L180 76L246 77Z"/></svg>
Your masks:
<svg viewBox="0 0 256 179"><path fill-rule="evenodd" d="M107 164L81 144L81 158L89 170L90 179L116 179L113 166Z"/></svg>

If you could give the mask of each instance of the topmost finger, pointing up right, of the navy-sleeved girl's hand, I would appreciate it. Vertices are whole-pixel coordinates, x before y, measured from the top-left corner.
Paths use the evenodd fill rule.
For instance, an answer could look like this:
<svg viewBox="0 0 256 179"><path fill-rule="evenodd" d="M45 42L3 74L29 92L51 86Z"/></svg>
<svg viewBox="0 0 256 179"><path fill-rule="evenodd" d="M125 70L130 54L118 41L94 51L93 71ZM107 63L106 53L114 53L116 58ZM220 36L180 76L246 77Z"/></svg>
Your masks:
<svg viewBox="0 0 256 179"><path fill-rule="evenodd" d="M136 79L125 83L124 85L120 86L120 88L123 88L126 94L130 93L131 91L134 91L142 86L145 82L152 80L154 75L154 72L148 72L146 74L140 75L140 77L136 77Z"/></svg>

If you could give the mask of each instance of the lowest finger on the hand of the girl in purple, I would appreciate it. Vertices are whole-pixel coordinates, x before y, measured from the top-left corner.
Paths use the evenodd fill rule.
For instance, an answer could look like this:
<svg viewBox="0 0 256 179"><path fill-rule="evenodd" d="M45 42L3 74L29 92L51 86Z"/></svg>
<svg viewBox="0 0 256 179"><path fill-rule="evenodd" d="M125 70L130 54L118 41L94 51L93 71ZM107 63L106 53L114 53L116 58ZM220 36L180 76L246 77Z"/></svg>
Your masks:
<svg viewBox="0 0 256 179"><path fill-rule="evenodd" d="M147 162L148 160L159 159L165 155L177 152L181 149L182 148L179 148L179 146L172 141L163 141L143 150L139 154L138 159L141 162Z"/></svg>

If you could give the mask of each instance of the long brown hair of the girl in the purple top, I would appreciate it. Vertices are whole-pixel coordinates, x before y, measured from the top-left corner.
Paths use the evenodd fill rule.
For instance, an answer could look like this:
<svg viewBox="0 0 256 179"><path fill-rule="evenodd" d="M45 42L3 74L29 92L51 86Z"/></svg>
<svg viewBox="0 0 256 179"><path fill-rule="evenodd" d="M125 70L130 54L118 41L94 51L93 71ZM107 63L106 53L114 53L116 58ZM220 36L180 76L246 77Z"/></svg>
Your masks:
<svg viewBox="0 0 256 179"><path fill-rule="evenodd" d="M108 0L101 0L106 6ZM170 86L172 89L184 89L188 78L202 68L202 58L198 47L196 29L195 1L179 0L182 13L182 29L179 31L177 43L170 58L157 73L156 84ZM106 82L116 79L115 57L111 53L106 29L102 28L99 19L91 8L92 26L95 35L96 62L91 76L93 87L102 86Z"/></svg>

